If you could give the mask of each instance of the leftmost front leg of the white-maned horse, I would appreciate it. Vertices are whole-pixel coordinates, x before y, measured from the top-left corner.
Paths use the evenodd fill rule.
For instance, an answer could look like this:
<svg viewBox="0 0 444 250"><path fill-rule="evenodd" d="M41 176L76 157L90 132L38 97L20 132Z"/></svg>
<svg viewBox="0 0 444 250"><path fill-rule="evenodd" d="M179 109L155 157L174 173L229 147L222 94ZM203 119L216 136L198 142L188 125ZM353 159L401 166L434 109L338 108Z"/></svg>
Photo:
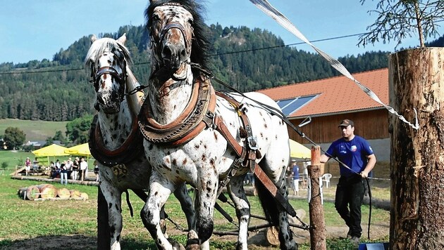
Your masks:
<svg viewBox="0 0 444 250"><path fill-rule="evenodd" d="M120 238L122 232L122 192L108 181L102 180L99 183L101 192L103 193L108 206L108 223L109 232L111 234L111 249L121 249Z"/></svg>

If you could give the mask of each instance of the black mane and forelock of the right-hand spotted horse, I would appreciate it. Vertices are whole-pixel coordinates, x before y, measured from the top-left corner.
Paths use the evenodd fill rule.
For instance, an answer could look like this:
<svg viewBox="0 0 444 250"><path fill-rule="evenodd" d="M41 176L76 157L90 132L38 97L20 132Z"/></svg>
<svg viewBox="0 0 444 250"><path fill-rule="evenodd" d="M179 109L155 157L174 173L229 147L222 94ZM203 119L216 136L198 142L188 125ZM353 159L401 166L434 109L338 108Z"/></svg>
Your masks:
<svg viewBox="0 0 444 250"><path fill-rule="evenodd" d="M168 3L180 4L187 11L191 13L194 18L193 28L194 28L194 39L192 39L192 50L190 59L191 62L198 63L205 69L209 69L209 56L208 51L210 48L209 42L209 32L208 27L204 23L204 18L201 13L205 13L206 10L202 4L197 3L193 0L158 0L149 4L147 10L145 11L145 19L147 21L147 29L152 25L151 16L153 14L154 8ZM150 34L151 35L151 34Z"/></svg>

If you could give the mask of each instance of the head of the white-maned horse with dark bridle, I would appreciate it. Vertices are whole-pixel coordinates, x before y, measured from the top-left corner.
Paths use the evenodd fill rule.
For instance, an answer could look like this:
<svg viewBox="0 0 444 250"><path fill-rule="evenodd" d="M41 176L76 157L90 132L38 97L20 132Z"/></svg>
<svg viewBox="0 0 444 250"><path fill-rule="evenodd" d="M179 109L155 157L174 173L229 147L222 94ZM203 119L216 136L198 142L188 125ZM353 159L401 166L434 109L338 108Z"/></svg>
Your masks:
<svg viewBox="0 0 444 250"><path fill-rule="evenodd" d="M130 62L129 51L124 46L126 35L118 40L111 38L91 38L91 47L87 53L86 65L91 68L91 82L97 93L96 110L106 114L120 111L125 96L127 62Z"/></svg>

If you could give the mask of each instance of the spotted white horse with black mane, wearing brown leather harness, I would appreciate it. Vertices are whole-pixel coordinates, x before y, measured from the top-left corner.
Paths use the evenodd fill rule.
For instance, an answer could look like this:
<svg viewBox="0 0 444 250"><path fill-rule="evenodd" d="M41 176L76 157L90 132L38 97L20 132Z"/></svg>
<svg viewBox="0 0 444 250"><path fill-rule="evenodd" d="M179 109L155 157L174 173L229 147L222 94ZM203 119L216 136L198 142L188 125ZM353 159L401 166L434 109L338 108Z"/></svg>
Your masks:
<svg viewBox="0 0 444 250"><path fill-rule="evenodd" d="M159 249L175 249L161 232L159 213L171 192L189 183L196 189L197 231L188 233L187 249L208 249L216 198L226 185L239 221L238 249L247 249L250 212L243 178L251 170L280 248L297 249L288 223L288 213L295 211L284 180L287 127L256 103L278 109L267 96L215 93L202 70L209 67L202 11L201 4L185 0L151 0L145 11L151 75L139 123L153 171L142 221Z"/></svg>

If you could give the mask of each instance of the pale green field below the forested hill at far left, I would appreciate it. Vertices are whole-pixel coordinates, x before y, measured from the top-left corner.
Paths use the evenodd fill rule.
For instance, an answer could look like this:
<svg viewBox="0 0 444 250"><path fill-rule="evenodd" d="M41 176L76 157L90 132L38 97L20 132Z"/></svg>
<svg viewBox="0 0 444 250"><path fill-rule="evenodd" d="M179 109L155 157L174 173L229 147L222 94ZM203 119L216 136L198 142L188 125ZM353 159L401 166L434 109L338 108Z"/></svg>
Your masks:
<svg viewBox="0 0 444 250"><path fill-rule="evenodd" d="M8 127L17 127L26 134L26 141L47 140L54 137L56 131L66 132L68 121L29 121L19 119L0 119L0 135L5 133Z"/></svg>

